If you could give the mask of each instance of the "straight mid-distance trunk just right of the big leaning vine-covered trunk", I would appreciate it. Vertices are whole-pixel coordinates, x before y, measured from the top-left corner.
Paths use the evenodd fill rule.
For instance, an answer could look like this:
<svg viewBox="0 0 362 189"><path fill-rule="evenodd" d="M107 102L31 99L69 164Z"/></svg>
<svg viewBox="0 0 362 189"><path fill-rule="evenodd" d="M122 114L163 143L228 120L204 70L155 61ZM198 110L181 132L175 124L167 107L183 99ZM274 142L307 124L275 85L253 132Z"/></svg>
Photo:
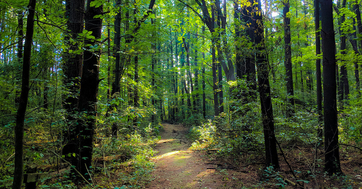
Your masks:
<svg viewBox="0 0 362 189"><path fill-rule="evenodd" d="M287 117L292 117L294 114L294 90L293 90L293 73L292 73L292 51L291 51L291 43L290 43L290 17L287 16L289 12L289 0L283 1L283 18L284 18L284 50L285 50L285 72L286 72L286 87L288 94L288 101L291 104L291 107L287 109ZM289 97L291 96L291 97Z"/></svg>

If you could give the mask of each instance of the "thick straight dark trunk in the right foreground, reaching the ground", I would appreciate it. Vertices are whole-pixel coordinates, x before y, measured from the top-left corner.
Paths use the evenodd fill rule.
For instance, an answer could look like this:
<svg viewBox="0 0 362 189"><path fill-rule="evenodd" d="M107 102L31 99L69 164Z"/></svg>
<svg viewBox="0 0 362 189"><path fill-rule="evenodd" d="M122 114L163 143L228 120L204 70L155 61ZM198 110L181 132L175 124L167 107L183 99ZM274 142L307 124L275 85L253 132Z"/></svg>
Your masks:
<svg viewBox="0 0 362 189"><path fill-rule="evenodd" d="M337 95L336 95L336 46L333 27L333 1L321 0L321 38L323 51L323 89L324 89L324 171L328 175L340 173L338 145Z"/></svg>

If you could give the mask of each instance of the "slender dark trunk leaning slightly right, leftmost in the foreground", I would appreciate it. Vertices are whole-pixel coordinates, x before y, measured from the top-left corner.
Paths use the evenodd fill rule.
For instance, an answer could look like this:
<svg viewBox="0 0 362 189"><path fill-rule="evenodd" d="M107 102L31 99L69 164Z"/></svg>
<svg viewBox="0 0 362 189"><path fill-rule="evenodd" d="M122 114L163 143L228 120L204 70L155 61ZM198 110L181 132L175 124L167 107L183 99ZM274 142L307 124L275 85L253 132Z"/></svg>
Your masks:
<svg viewBox="0 0 362 189"><path fill-rule="evenodd" d="M16 113L15 126L15 155L14 155L14 180L12 189L20 189L24 174L24 119L26 106L28 106L29 81L30 81L30 57L33 44L34 14L36 0L30 0L28 5L28 18L26 20L26 34L24 45L24 56L22 64L21 93L18 111Z"/></svg>

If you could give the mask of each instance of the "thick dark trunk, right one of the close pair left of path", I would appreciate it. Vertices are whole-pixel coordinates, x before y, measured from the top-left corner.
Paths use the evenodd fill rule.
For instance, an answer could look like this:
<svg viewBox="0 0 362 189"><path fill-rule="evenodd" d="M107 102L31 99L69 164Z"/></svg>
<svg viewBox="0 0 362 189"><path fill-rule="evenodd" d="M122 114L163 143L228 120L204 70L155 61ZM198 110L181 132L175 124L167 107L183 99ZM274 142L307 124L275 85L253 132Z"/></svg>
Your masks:
<svg viewBox="0 0 362 189"><path fill-rule="evenodd" d="M100 40L102 35L102 19L94 16L102 14L103 5L99 7L90 7L87 2L87 11L85 12L85 30L92 31L92 36ZM101 56L101 47L97 40L86 39L84 48L84 61L82 78L80 81L79 110L87 115L86 120L78 120L79 123L79 154L76 169L85 178L90 178L88 169L92 165L93 153L93 135L94 125L97 117L97 95L99 80L99 65Z"/></svg>

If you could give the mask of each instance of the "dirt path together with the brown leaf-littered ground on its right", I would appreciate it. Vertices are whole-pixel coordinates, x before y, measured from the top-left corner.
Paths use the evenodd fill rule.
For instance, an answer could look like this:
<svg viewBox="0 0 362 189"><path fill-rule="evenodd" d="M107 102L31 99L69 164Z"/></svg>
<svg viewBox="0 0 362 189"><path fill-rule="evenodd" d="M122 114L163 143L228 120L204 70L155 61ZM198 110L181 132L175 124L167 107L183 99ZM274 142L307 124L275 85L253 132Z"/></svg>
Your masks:
<svg viewBox="0 0 362 189"><path fill-rule="evenodd" d="M208 154L206 150L191 151L191 141L186 138L186 126L163 124L162 139L155 144L158 151L151 159L155 170L151 172L149 182L144 182L141 188L149 189L254 189L254 188L348 188L362 189L360 152L349 151L349 157L342 152L341 165L344 176L326 177L323 168L315 171L315 179L308 171L312 153L308 148L289 150L288 161L292 162L293 170L298 178L293 179L290 169L282 157L279 157L281 169L266 173L264 165L233 167L216 155ZM306 151L311 157L301 156L300 150ZM344 152L344 153L343 153ZM323 154L321 151L320 154ZM287 153L288 156L288 153ZM353 158L352 158L353 157ZM303 160L304 159L304 160ZM231 160L232 161L232 160ZM352 161L352 162L351 162ZM357 161L357 162L356 162ZM351 164L352 163L352 164ZM241 168L242 167L242 168ZM289 180L287 179L289 178ZM297 186L296 181L300 185ZM283 187L281 184L284 184Z"/></svg>

